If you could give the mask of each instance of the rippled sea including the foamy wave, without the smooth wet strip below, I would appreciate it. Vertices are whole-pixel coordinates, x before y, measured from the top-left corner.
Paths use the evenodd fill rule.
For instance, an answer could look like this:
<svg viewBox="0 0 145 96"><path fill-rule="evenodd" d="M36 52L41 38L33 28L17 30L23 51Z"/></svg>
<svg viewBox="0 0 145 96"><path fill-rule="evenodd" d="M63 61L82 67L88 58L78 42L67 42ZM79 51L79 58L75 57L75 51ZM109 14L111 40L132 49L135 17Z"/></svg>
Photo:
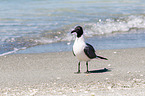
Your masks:
<svg viewBox="0 0 145 96"><path fill-rule="evenodd" d="M71 41L73 37L68 33L76 25L83 26L86 37L145 28L144 5L142 0L61 0L57 3L50 0L2 0L0 53L13 48Z"/></svg>

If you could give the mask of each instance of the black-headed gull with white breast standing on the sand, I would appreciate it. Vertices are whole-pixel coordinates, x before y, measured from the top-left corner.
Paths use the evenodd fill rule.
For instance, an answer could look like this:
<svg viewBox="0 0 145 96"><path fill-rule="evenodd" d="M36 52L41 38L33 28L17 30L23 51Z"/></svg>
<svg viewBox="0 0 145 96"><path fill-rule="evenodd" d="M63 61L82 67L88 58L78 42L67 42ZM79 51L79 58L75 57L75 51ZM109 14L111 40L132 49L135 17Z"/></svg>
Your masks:
<svg viewBox="0 0 145 96"><path fill-rule="evenodd" d="M77 36L73 45L73 54L79 60L77 73L80 73L81 61L86 62L86 66L87 66L86 73L89 73L88 61L95 58L108 60L107 58L96 55L95 49L93 48L93 46L88 43L85 43L84 38L83 38L83 28L81 26L77 26L71 33L77 33Z"/></svg>

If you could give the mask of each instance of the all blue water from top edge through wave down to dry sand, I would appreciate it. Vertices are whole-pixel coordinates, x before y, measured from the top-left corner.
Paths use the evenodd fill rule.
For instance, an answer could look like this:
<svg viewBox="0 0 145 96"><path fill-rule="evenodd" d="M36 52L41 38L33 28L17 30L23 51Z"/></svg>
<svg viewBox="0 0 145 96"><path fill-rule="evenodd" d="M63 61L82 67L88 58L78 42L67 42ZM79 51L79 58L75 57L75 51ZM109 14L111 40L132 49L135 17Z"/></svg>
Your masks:
<svg viewBox="0 0 145 96"><path fill-rule="evenodd" d="M145 47L145 2L0 0L0 55L70 51L77 25L98 49Z"/></svg>

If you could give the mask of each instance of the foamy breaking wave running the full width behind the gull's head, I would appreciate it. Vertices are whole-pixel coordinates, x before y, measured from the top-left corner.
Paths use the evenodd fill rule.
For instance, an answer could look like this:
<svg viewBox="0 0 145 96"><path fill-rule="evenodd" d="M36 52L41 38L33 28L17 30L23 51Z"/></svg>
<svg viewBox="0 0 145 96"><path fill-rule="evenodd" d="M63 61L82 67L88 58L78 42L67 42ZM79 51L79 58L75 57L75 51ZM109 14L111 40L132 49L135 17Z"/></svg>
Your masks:
<svg viewBox="0 0 145 96"><path fill-rule="evenodd" d="M84 29L85 37L93 37L95 35L106 35L119 32L128 32L131 29L144 29L145 28L145 16L144 15L132 15L118 18L106 18L106 19L95 19L92 22L83 22L81 25ZM55 42L67 41L70 42L74 40L74 35L71 34L72 29L75 25L67 25L66 27L51 30L49 32L39 32L40 34L30 34L30 35L14 35L1 36L0 41L4 42L5 45L1 45L7 48L8 51L4 52L0 56L14 53L21 50L23 47L33 47L41 44L50 44ZM27 33L27 32L26 32ZM12 34L12 32L11 32ZM10 35L11 35L10 34ZM69 43L68 43L69 45ZM18 46L18 47L17 47ZM18 48L18 49L15 49ZM12 50L13 51L9 51Z"/></svg>

